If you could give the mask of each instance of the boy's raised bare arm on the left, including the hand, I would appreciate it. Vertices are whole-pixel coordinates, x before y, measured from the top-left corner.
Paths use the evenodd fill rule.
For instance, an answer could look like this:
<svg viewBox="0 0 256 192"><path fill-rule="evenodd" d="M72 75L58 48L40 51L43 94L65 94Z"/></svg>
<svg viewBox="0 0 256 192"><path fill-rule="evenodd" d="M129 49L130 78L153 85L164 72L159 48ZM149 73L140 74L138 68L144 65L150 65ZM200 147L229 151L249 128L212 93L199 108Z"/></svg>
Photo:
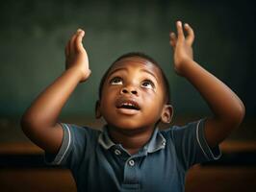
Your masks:
<svg viewBox="0 0 256 192"><path fill-rule="evenodd" d="M23 132L40 148L57 153L63 140L58 117L67 99L77 86L90 77L89 60L83 47L83 30L78 30L65 47L64 73L50 84L27 108L21 118Z"/></svg>

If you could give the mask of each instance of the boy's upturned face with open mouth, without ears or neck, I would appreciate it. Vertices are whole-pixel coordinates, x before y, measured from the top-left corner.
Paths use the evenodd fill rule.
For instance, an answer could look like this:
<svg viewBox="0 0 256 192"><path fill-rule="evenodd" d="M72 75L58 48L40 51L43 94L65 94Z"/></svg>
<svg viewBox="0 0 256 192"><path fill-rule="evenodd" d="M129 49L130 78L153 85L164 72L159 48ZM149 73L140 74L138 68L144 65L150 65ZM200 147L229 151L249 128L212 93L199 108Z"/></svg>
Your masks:
<svg viewBox="0 0 256 192"><path fill-rule="evenodd" d="M115 62L102 87L97 108L110 126L136 130L153 128L166 106L160 69L139 57Z"/></svg>

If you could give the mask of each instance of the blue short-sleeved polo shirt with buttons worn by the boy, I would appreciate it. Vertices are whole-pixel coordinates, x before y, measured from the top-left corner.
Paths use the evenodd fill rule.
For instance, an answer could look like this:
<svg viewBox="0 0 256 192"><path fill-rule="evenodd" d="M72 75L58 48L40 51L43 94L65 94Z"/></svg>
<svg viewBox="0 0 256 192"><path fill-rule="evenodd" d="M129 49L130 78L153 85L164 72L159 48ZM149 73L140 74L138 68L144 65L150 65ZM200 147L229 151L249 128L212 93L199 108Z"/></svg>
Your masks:
<svg viewBox="0 0 256 192"><path fill-rule="evenodd" d="M184 191L187 170L195 163L220 157L204 136L204 120L153 132L136 155L130 155L108 134L62 124L64 139L57 155L46 161L72 172L78 191Z"/></svg>

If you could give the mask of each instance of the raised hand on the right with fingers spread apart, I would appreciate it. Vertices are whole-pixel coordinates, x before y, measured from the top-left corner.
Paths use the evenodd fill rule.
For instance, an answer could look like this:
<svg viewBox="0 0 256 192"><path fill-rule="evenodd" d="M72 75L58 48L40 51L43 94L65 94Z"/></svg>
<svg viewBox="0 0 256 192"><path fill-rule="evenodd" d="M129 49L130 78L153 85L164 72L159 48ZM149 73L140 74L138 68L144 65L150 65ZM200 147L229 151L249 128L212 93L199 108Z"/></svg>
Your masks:
<svg viewBox="0 0 256 192"><path fill-rule="evenodd" d="M186 68L187 64L192 62L192 42L194 39L192 28L189 24L185 24L184 28L187 31L188 36L184 36L182 22L177 21L177 36L170 32L170 45L173 48L173 59L174 59L174 69L178 75L183 76L183 69Z"/></svg>

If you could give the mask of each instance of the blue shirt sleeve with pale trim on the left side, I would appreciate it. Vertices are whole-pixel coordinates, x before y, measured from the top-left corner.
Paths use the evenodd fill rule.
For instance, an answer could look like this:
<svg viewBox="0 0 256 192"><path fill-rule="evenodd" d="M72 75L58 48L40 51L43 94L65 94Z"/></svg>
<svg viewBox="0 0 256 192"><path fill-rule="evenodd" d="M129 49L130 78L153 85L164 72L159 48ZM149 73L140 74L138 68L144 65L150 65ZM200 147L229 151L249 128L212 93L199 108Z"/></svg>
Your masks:
<svg viewBox="0 0 256 192"><path fill-rule="evenodd" d="M64 129L62 145L57 154L45 153L45 162L62 165L72 170L79 166L87 150L88 130L76 125L61 124Z"/></svg>

